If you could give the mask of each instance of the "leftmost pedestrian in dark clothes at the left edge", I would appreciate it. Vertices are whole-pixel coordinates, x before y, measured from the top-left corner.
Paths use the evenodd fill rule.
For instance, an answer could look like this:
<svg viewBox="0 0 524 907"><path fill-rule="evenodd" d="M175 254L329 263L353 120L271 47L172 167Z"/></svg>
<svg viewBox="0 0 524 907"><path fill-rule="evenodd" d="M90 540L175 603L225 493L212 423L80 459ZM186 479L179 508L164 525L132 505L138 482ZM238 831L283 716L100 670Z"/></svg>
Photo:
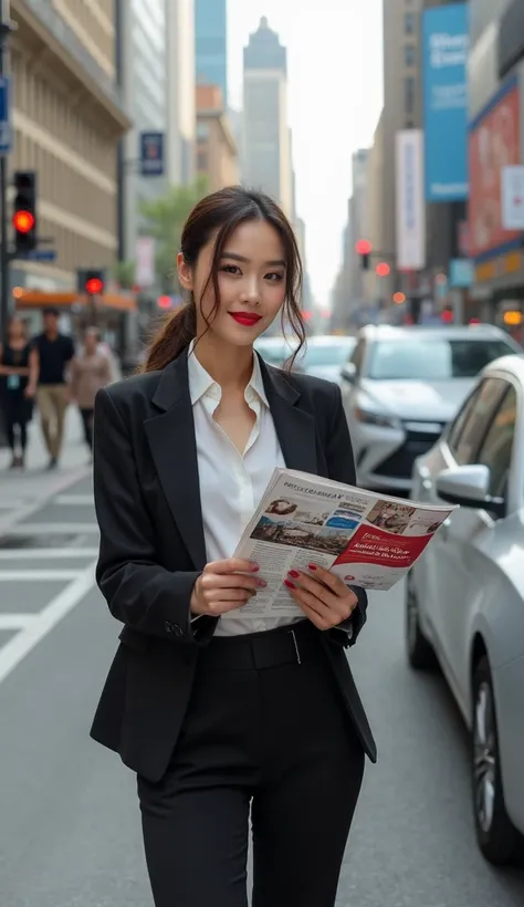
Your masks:
<svg viewBox="0 0 524 907"><path fill-rule="evenodd" d="M25 322L14 315L8 323L6 345L0 343L0 404L12 455L11 469L25 466L28 424L33 414L38 375L38 353L32 348Z"/></svg>

